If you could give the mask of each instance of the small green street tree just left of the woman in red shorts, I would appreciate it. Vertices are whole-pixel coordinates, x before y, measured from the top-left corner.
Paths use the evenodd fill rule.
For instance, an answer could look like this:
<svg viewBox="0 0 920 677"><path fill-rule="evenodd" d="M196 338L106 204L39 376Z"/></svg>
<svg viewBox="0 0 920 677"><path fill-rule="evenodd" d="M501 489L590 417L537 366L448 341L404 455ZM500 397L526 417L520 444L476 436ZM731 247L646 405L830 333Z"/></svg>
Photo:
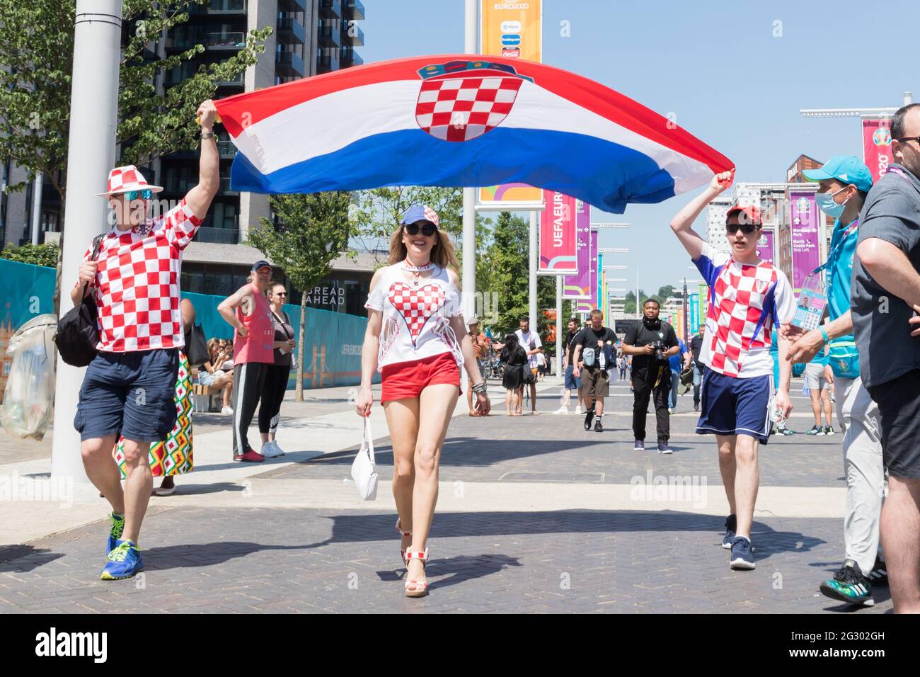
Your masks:
<svg viewBox="0 0 920 677"><path fill-rule="evenodd" d="M304 401L304 333L307 292L332 272L331 263L348 249L357 228L349 217L349 193L272 195L269 204L279 226L267 218L254 228L248 244L279 265L301 292L300 341L297 342L297 402Z"/></svg>

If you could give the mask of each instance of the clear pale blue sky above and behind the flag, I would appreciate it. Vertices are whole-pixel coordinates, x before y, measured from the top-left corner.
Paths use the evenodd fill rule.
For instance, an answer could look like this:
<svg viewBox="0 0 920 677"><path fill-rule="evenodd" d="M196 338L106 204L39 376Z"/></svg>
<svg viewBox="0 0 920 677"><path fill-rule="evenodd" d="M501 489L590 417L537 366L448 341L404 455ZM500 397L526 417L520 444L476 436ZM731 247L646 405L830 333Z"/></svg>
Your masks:
<svg viewBox="0 0 920 677"><path fill-rule="evenodd" d="M463 52L464 0L363 0L364 63ZM799 154L861 157L857 118L809 119L801 108L899 106L920 100L920 3L544 0L543 60L591 77L677 123L736 165L736 181L785 181ZM775 21L782 37L774 37ZM569 22L570 37L560 35ZM694 193L696 194L696 193ZM634 204L593 221L602 247L648 292L676 285L689 259L668 224L692 194ZM701 219L702 220L702 219Z"/></svg>

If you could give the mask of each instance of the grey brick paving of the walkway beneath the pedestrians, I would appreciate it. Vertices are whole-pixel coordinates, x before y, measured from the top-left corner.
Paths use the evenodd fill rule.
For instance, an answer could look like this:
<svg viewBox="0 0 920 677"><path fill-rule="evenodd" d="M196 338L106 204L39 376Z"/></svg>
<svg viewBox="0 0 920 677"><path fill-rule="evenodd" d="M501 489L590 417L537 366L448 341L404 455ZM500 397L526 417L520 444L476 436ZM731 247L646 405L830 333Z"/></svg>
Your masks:
<svg viewBox="0 0 920 677"><path fill-rule="evenodd" d="M611 409L626 409L626 402L617 396ZM684 411L690 402L682 398ZM555 404L553 395L540 398L547 412ZM800 398L796 404L799 411L806 405ZM442 480L549 481L577 490L628 483L651 470L719 484L712 439L693 434L692 415L672 418L670 457L634 452L628 418L604 418L607 430L598 434L581 430L574 415L457 416ZM842 485L840 440L771 441L761 457L762 484ZM378 440L383 475L392 461L387 449ZM266 468L258 477L340 478L350 463L351 454L339 451ZM387 483L380 490L388 491ZM840 519L757 514L757 569L733 572L719 548L722 515L537 508L438 512L429 542L431 595L408 600L395 515L388 512L157 505L144 522L143 577L98 580L107 522L0 548L0 613L853 611L818 593L840 563ZM888 590L875 593L877 604L859 613L891 610Z"/></svg>

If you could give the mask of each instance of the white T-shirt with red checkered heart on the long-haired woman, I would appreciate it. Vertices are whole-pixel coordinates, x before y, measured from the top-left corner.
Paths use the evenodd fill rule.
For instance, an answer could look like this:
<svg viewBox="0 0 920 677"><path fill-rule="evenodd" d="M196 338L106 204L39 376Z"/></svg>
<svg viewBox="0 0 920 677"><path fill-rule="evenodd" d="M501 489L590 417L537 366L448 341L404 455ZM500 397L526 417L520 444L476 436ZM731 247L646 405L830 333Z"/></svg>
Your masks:
<svg viewBox="0 0 920 677"><path fill-rule="evenodd" d="M460 293L447 270L435 264L431 277L421 278L418 286L409 277L401 264L391 265L364 304L384 314L377 370L441 353L454 353L462 365L463 354L450 327L450 319L462 314Z"/></svg>

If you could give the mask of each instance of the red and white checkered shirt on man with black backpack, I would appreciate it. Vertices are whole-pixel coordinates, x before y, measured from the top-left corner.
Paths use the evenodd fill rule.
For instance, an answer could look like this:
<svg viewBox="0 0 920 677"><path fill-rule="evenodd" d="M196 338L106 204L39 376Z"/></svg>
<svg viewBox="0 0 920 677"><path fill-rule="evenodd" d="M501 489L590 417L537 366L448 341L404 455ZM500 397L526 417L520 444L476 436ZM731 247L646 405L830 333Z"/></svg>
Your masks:
<svg viewBox="0 0 920 677"><path fill-rule="evenodd" d="M92 286L99 311L98 350L131 353L185 344L179 271L182 251L200 225L183 199L159 219L106 233ZM91 253L87 249L83 260Z"/></svg>

